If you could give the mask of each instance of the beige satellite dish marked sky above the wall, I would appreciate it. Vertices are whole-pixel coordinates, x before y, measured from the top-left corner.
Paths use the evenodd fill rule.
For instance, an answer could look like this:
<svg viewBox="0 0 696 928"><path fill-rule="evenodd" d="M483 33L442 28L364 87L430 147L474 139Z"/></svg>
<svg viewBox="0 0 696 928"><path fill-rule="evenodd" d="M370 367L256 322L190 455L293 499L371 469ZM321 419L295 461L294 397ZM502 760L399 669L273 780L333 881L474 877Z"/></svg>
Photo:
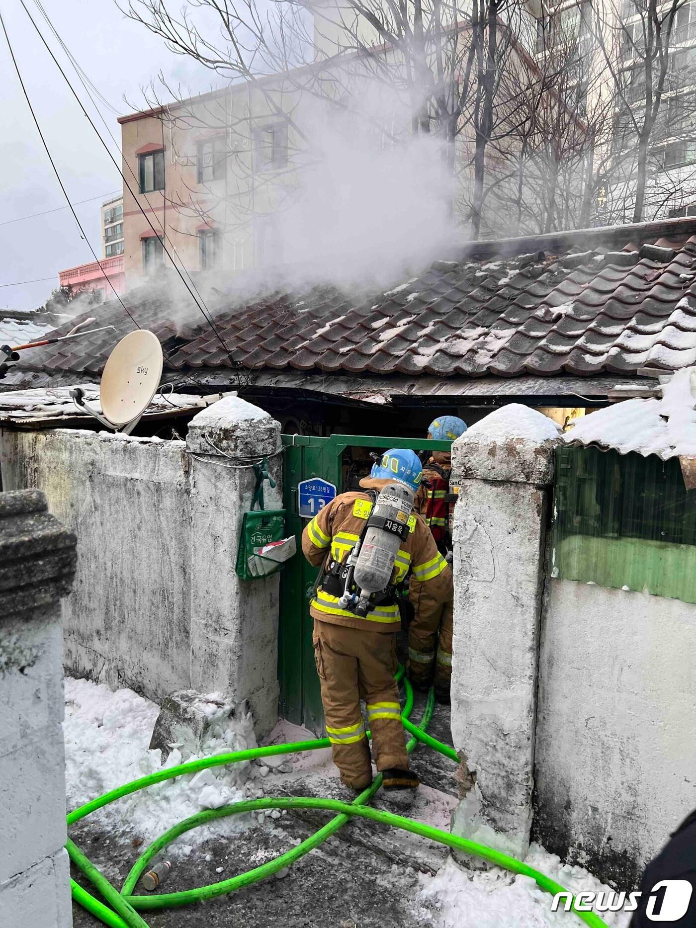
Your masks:
<svg viewBox="0 0 696 928"><path fill-rule="evenodd" d="M104 365L99 385L101 415L87 406L80 387L71 390L71 397L103 425L130 434L160 386L162 364L157 336L148 329L136 329L122 338Z"/></svg>

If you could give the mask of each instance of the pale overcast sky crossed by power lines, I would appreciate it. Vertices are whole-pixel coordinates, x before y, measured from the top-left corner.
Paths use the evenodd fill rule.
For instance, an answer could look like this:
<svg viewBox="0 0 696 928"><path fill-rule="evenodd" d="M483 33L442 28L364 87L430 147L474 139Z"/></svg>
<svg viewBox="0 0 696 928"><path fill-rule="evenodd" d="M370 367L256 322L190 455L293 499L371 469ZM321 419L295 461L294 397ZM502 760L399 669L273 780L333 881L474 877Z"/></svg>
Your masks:
<svg viewBox="0 0 696 928"><path fill-rule="evenodd" d="M103 123L96 117L84 89L71 70L56 40L32 4L27 6L44 32L54 53L68 73L85 107L102 135ZM113 0L43 0L44 8L65 45L100 93L119 113L140 109L141 87L163 71L172 84L200 93L211 87L212 75L188 58L168 52L145 27L125 19ZM41 123L46 142L58 166L63 183L74 203L96 198L76 207L84 230L101 257L99 206L109 194L122 188L121 176L111 163L71 91L49 58L33 30L19 0L4 0L3 17L19 69L33 108ZM59 54L58 54L59 52ZM5 38L0 34L0 85L2 125L0 133L0 284L52 279L0 288L0 307L32 309L45 302L58 286L58 271L92 261L89 246L68 209L56 213L8 222L31 213L65 206L58 181L32 122L21 93L17 75L9 58ZM129 103L125 103L123 97ZM131 104L131 105L129 105ZM116 116L100 104L112 134L120 141ZM107 140L110 139L107 137ZM116 152L114 152L116 154Z"/></svg>

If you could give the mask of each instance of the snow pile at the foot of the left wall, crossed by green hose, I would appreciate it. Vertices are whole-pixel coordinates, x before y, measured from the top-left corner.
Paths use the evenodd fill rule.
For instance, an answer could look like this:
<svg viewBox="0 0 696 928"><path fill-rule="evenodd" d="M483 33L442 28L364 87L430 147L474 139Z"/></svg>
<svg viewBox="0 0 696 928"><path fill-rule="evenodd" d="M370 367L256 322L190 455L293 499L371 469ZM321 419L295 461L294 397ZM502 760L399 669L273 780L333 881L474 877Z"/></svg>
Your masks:
<svg viewBox="0 0 696 928"><path fill-rule="evenodd" d="M132 690L112 692L105 686L70 677L65 681L66 788L69 810L130 780L146 776L162 767L181 763L181 752L174 749L164 765L161 751L148 750L159 706L137 696ZM212 738L199 755L224 754L255 747L251 715L232 720L222 738ZM191 760L195 757L191 757ZM150 842L175 822L205 808L218 808L238 802L255 790L248 762L214 767L176 780L164 780L148 789L125 796L90 816L90 821L113 830L127 829ZM251 773L251 778L250 778ZM224 823L188 831L187 845L201 842L214 829L238 831L245 827L240 816Z"/></svg>

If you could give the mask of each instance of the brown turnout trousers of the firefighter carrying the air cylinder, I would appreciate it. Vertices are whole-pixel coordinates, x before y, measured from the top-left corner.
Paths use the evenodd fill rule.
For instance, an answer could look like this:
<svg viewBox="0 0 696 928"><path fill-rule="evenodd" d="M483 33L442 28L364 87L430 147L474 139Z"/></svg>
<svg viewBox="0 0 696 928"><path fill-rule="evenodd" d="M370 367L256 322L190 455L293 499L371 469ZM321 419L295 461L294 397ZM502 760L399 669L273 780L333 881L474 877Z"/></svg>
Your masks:
<svg viewBox="0 0 696 928"><path fill-rule="evenodd" d="M367 704L375 766L407 770L399 690L393 678L395 635L315 619L312 640L327 735L342 783L360 790L372 780L361 699Z"/></svg>

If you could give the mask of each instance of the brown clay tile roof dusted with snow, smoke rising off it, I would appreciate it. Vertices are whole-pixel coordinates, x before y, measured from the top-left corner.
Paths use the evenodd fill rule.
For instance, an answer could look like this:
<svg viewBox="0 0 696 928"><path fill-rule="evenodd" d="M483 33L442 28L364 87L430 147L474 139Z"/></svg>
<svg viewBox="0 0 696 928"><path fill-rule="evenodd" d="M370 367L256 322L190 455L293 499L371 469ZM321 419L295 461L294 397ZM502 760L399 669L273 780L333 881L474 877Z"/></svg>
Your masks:
<svg viewBox="0 0 696 928"><path fill-rule="evenodd" d="M696 220L473 243L367 296L322 286L245 303L211 291L219 338L188 294L173 302L150 284L123 301L160 338L170 379L236 366L251 377L635 375L696 363ZM0 389L98 373L134 323L116 301L95 315L116 332L33 349Z"/></svg>

